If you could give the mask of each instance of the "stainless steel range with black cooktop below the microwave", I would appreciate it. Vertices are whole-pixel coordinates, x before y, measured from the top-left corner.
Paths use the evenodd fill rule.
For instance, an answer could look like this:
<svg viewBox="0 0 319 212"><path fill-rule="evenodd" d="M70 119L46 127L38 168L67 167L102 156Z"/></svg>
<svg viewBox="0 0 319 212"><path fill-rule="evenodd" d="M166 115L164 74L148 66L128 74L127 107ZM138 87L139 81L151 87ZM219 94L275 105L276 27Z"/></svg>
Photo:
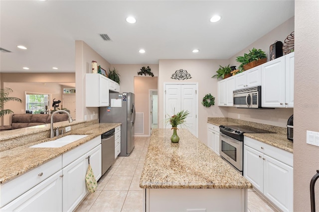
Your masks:
<svg viewBox="0 0 319 212"><path fill-rule="evenodd" d="M219 126L219 154L243 174L244 133L275 133L246 125Z"/></svg>

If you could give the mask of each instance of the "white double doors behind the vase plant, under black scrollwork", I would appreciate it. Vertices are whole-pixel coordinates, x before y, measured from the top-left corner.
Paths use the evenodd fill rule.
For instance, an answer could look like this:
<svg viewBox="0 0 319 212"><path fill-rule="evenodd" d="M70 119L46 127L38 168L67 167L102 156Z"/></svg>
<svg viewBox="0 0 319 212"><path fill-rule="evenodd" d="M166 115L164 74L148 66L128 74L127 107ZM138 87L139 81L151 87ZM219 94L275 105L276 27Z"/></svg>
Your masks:
<svg viewBox="0 0 319 212"><path fill-rule="evenodd" d="M180 110L188 110L189 115L186 118L186 128L195 136L197 132L197 85L196 84L165 84L165 120L172 114ZM170 124L165 125L171 127Z"/></svg>

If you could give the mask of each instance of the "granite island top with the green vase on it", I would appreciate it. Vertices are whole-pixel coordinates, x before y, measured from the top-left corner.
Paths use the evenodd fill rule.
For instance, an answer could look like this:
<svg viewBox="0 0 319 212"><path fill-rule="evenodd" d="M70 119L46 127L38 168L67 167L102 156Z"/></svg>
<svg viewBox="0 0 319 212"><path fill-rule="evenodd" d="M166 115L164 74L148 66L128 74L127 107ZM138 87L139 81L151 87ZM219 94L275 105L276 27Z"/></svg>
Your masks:
<svg viewBox="0 0 319 212"><path fill-rule="evenodd" d="M187 129L153 129L140 180L144 189L249 189L252 184Z"/></svg>

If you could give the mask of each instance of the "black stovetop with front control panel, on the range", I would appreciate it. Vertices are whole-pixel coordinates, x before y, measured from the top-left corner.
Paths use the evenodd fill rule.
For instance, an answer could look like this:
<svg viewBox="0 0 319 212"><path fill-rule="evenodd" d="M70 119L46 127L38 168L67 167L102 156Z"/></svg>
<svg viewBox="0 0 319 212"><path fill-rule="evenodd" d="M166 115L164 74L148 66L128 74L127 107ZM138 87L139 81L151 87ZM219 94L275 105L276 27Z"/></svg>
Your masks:
<svg viewBox="0 0 319 212"><path fill-rule="evenodd" d="M244 141L244 133L275 133L246 125L220 125L219 129L221 133L226 134L239 141Z"/></svg>

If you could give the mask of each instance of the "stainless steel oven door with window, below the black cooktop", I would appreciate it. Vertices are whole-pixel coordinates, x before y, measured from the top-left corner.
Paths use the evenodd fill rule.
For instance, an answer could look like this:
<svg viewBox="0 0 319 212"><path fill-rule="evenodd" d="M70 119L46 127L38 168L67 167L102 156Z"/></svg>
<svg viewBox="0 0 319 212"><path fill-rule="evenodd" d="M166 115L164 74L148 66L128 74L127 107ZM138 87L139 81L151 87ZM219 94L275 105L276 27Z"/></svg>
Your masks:
<svg viewBox="0 0 319 212"><path fill-rule="evenodd" d="M243 142L223 133L219 134L219 154L233 165L241 174L243 172Z"/></svg>

